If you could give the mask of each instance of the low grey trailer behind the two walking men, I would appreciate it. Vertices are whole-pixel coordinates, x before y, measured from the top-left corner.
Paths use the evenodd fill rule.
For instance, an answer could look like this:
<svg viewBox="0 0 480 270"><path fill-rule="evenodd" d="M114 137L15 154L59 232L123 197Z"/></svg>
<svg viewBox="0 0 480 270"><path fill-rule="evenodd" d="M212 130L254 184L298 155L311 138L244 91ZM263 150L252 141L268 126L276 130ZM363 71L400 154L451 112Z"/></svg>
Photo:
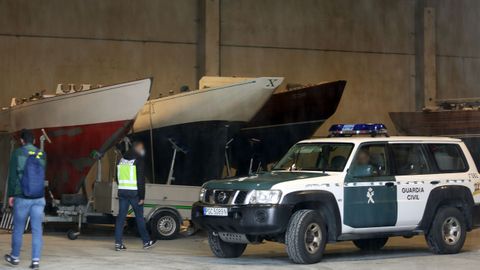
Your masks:
<svg viewBox="0 0 480 270"><path fill-rule="evenodd" d="M42 140L43 144L43 140ZM50 196L49 209L44 223L72 223L76 227L68 230L67 237L75 240L81 234L84 224L114 224L118 215L118 188L114 181L102 181L102 155L97 155L97 177L91 196L86 193L65 194L60 199ZM187 235L196 232L190 222L192 204L198 201L201 187L171 184L146 184L144 218L151 236L155 239L170 240L178 237L181 230ZM5 207L1 220L2 228L12 229L12 216ZM134 224L135 215L130 209L127 224ZM28 226L28 225L27 225ZM1 229L1 228L0 228Z"/></svg>

